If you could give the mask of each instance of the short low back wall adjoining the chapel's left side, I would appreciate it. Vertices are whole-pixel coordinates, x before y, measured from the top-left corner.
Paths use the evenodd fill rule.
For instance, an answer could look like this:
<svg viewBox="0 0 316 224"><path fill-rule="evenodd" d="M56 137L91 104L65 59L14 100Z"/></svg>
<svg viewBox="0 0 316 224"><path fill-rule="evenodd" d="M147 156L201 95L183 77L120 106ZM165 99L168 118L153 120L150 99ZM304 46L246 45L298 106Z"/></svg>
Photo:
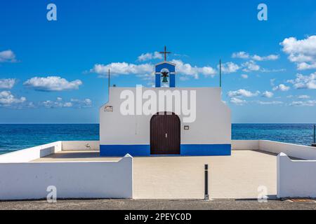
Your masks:
<svg viewBox="0 0 316 224"><path fill-rule="evenodd" d="M100 141L62 141L62 151L100 151Z"/></svg>

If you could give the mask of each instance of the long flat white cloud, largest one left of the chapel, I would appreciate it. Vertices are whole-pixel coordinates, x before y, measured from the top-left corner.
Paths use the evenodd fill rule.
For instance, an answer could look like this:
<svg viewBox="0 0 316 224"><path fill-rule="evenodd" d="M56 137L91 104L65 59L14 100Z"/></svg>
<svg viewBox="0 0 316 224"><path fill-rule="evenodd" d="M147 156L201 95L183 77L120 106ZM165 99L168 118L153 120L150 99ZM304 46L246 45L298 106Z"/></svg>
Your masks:
<svg viewBox="0 0 316 224"><path fill-rule="evenodd" d="M59 76L33 77L26 80L23 85L32 87L39 91L62 91L62 90L78 90L82 85L81 80L68 81Z"/></svg>

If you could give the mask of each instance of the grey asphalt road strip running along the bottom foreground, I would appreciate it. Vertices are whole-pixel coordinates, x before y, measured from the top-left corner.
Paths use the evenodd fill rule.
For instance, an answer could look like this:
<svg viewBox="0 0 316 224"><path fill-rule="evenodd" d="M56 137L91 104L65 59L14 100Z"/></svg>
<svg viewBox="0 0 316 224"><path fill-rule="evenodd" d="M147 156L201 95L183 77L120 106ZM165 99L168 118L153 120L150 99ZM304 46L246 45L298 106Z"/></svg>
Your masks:
<svg viewBox="0 0 316 224"><path fill-rule="evenodd" d="M291 202L289 200L268 200L259 203L257 200L58 200L48 203L46 200L37 201L9 201L0 202L0 209L251 209L251 210L291 210L291 209L313 209L316 203Z"/></svg>

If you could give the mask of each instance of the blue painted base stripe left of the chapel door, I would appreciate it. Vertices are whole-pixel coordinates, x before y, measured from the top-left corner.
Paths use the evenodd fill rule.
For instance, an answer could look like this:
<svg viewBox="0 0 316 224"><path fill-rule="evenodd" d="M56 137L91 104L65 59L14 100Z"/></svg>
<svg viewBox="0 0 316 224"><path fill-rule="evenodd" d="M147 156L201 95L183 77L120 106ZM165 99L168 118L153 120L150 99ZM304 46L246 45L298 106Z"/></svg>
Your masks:
<svg viewBox="0 0 316 224"><path fill-rule="evenodd" d="M100 145L100 156L149 156L150 145Z"/></svg>

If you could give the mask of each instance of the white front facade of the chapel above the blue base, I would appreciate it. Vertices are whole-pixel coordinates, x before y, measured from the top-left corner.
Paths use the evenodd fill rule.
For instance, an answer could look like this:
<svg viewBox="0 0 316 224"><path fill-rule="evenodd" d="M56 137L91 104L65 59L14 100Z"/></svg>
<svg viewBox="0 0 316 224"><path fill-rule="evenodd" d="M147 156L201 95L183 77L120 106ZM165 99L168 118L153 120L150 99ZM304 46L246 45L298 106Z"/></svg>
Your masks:
<svg viewBox="0 0 316 224"><path fill-rule="evenodd" d="M110 101L100 108L100 144L150 144L150 116L123 116L120 105L121 91L135 87L110 87ZM157 93L162 88L145 88ZM181 121L181 144L230 144L230 109L220 97L219 87L171 88L170 90L196 90L197 116L194 123ZM145 102L145 100L143 100ZM113 112L105 112L105 106L113 106ZM158 112L159 110L157 110ZM172 111L174 112L174 111ZM190 130L184 130L189 125Z"/></svg>

